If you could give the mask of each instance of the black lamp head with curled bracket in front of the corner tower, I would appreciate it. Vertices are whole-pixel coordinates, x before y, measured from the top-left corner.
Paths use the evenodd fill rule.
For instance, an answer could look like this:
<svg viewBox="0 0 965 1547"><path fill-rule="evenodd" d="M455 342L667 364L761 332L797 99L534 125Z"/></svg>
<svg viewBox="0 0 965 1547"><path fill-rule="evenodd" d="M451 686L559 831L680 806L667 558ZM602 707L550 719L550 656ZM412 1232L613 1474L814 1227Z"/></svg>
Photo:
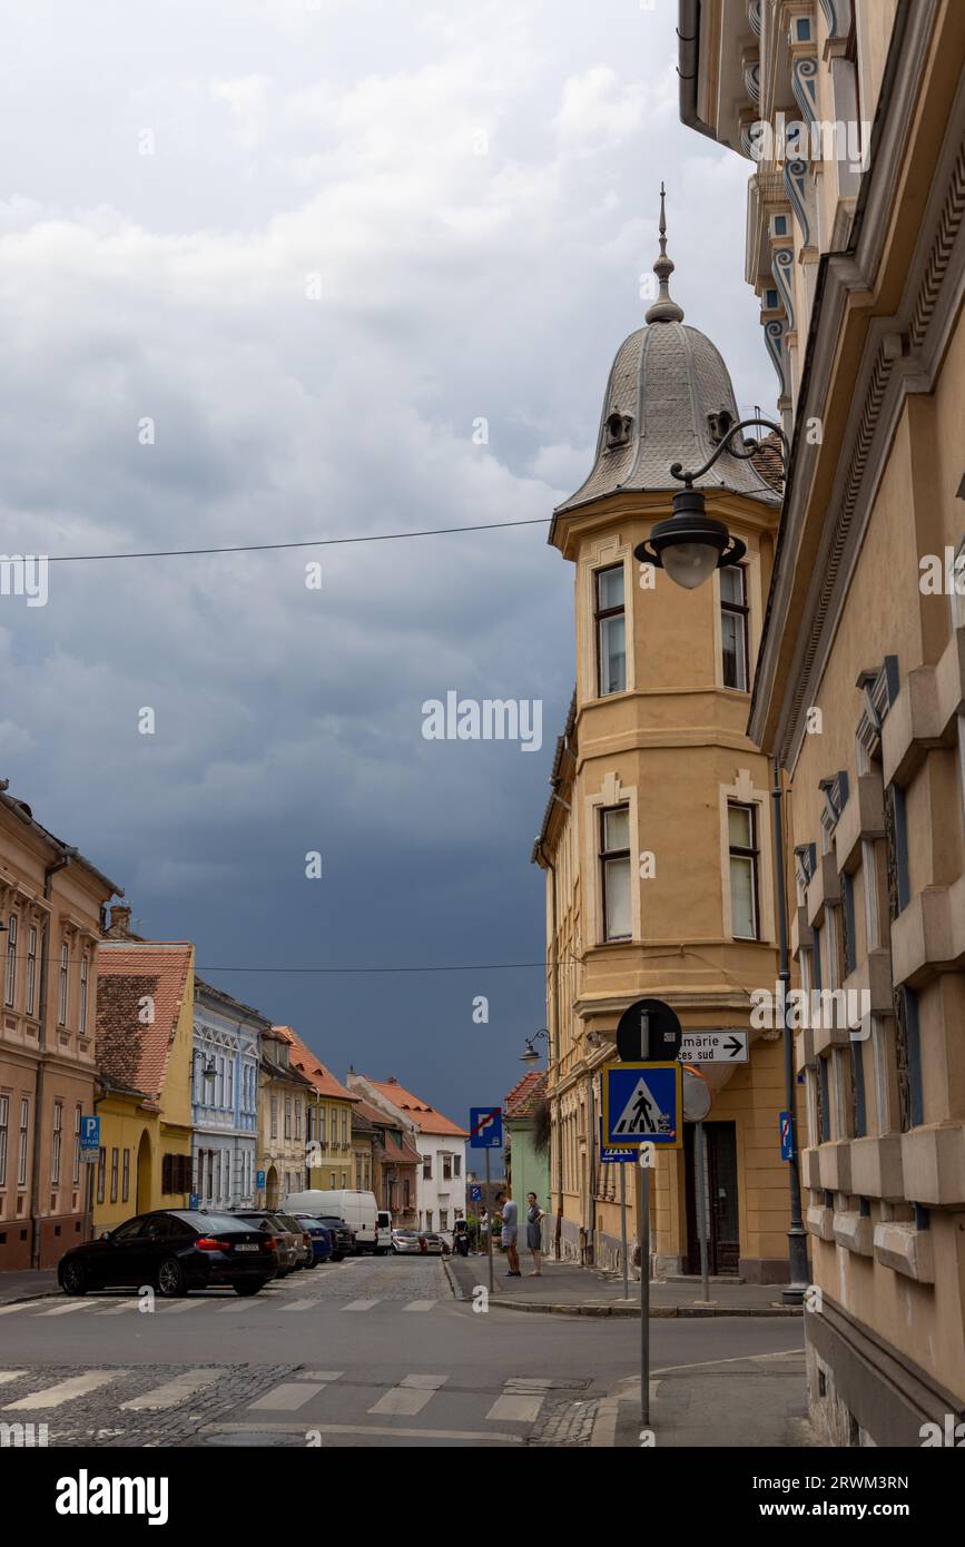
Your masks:
<svg viewBox="0 0 965 1547"><path fill-rule="evenodd" d="M739 563L747 552L747 545L739 537L731 537L724 521L716 521L711 515L707 515L704 490L694 489L693 484L694 478L702 478L725 450L731 456L738 456L742 463L755 455L761 446L759 441L742 441L744 450L738 450L730 444L735 435L752 424L766 425L781 436L784 459L787 461L787 436L779 424L759 418L739 419L736 424L730 424L730 415L724 412L719 418L719 427L724 430L721 444L714 447L713 455L704 466L694 472L684 472L680 463L671 466L670 476L679 478L684 484L673 497L674 514L667 521L657 521L646 541L634 548L634 558L639 558L640 563L654 565L657 569L665 569L674 585L682 586L685 591L694 591L699 585L704 585L705 580L710 580L714 569L725 569L728 565Z"/></svg>

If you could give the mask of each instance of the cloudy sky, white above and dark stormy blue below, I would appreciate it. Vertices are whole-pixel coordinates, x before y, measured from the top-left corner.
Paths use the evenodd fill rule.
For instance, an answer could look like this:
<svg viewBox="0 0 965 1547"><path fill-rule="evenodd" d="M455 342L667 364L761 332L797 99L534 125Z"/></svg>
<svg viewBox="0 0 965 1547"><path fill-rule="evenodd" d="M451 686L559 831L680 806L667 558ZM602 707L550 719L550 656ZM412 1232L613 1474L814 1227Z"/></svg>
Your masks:
<svg viewBox="0 0 965 1547"><path fill-rule="evenodd" d="M676 11L6 0L0 549L549 517L642 323L660 178L673 294L773 412L748 164L677 121ZM538 968L238 968L540 961L572 682L546 526L57 563L46 606L0 597L0 775L139 933L464 1120L524 1069ZM541 750L424 739L450 688L541 699Z"/></svg>

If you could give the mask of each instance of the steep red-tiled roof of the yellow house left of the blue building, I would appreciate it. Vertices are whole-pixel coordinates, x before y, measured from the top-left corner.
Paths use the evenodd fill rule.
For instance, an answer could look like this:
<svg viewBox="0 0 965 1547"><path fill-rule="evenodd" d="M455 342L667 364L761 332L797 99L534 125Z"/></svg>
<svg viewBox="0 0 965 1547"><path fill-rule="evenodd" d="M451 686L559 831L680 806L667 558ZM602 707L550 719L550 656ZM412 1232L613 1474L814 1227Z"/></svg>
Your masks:
<svg viewBox="0 0 965 1547"><path fill-rule="evenodd" d="M97 1072L155 1100L193 968L189 941L110 941L97 947ZM153 1021L141 1021L153 999Z"/></svg>

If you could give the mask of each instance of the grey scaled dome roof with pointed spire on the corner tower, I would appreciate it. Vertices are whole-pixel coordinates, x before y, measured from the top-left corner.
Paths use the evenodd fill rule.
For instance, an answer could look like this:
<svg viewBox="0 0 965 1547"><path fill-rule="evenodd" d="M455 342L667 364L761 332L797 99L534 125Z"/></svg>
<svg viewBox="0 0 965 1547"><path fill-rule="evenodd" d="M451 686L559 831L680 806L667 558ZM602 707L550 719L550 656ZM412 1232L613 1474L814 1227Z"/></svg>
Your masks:
<svg viewBox="0 0 965 1547"><path fill-rule="evenodd" d="M575 493L557 506L557 514L589 500L628 489L679 489L671 463L701 467L739 418L733 385L721 351L697 328L684 323L684 309L671 300L660 186L660 257L654 272L660 294L637 328L617 350L597 436L592 470ZM722 452L694 487L728 489L767 504L779 504L778 492L753 463Z"/></svg>

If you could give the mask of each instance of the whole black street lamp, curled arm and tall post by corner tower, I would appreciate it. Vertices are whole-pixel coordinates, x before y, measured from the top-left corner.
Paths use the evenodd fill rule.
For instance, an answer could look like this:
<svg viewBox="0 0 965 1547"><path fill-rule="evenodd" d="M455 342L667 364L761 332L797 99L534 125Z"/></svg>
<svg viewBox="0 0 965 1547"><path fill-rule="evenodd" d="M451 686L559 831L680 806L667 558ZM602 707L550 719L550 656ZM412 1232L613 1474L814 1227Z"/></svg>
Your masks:
<svg viewBox="0 0 965 1547"><path fill-rule="evenodd" d="M773 419L752 418L730 424L730 418L721 425L724 435L714 447L713 455L694 472L684 472L680 463L670 469L671 478L677 478L684 487L673 497L674 514L667 521L657 521L650 538L634 548L634 558L640 563L654 565L665 569L674 585L685 591L694 591L710 580L714 569L725 569L728 565L741 562L747 552L739 537L731 537L724 521L716 521L707 515L704 492L694 489L694 480L702 478L718 456L730 452L741 461L747 461L759 447L759 441L741 439L741 449L731 444L733 438L748 425L762 425L773 430L784 453L784 469L789 461L787 436ZM773 786L773 873L778 908L778 984L781 998L781 1030L784 1038L784 1103L790 1122L790 1160L787 1165L787 1185L790 1193L790 1227L787 1230L787 1269L789 1284L783 1292L783 1299L789 1304L801 1304L807 1289L807 1231L801 1217L801 1176L798 1171L798 1125L795 1112L795 1072L793 1072L793 1029L789 1026L787 992L790 987L790 951L787 945L787 903L784 893L784 825L781 817L781 766L775 753L772 758Z"/></svg>

